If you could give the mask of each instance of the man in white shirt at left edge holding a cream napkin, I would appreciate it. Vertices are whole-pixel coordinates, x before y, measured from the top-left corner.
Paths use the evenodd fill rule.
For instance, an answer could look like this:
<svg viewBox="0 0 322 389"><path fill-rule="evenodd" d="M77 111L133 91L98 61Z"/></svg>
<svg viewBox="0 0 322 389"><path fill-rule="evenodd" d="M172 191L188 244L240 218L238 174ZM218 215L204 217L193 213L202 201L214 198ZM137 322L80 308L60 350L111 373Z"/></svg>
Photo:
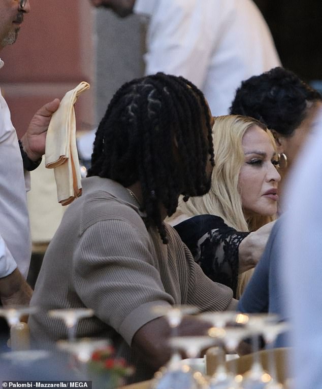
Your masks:
<svg viewBox="0 0 322 389"><path fill-rule="evenodd" d="M29 0L0 0L0 51L15 43ZM0 68L4 62L0 59ZM26 202L29 174L45 152L47 127L59 100L45 104L33 117L24 136L17 139L8 105L0 90L0 300L3 305L28 304L27 276L31 242Z"/></svg>

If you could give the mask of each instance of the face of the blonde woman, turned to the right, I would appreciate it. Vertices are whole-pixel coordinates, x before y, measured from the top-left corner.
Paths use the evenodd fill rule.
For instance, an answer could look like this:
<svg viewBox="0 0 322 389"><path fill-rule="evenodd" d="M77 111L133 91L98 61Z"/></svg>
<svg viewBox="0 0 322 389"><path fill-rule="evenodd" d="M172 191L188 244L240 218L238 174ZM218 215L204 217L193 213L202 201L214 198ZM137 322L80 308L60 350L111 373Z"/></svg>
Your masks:
<svg viewBox="0 0 322 389"><path fill-rule="evenodd" d="M253 125L242 139L244 164L238 178L238 189L246 219L256 215L271 216L277 212L277 155L272 139Z"/></svg>

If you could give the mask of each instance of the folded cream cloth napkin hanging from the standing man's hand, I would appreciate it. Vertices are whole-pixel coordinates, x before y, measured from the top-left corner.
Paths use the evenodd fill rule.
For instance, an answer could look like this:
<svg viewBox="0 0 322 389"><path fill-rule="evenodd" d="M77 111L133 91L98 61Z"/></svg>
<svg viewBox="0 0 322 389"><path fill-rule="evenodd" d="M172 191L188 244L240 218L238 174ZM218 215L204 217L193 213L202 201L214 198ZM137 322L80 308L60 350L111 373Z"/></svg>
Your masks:
<svg viewBox="0 0 322 389"><path fill-rule="evenodd" d="M74 104L88 88L89 84L83 81L66 93L58 110L52 115L47 130L45 164L47 168L54 169L57 197L61 205L70 204L82 194Z"/></svg>

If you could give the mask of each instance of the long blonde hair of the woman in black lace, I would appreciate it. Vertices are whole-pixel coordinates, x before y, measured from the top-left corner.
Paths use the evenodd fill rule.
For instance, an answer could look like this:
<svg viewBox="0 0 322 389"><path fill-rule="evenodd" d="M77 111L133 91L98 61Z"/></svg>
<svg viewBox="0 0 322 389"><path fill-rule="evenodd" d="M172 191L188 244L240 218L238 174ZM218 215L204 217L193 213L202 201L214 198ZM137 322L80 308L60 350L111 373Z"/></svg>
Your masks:
<svg viewBox="0 0 322 389"><path fill-rule="evenodd" d="M190 197L187 202L180 197L174 217L182 214L186 216L216 215L237 231L253 231L275 219L275 215L256 215L246 220L243 213L241 195L238 190L239 173L245 158L242 138L245 132L254 125L267 132L276 150L273 135L263 123L256 119L240 115L215 118L212 128L215 166L211 177L211 189L204 196Z"/></svg>

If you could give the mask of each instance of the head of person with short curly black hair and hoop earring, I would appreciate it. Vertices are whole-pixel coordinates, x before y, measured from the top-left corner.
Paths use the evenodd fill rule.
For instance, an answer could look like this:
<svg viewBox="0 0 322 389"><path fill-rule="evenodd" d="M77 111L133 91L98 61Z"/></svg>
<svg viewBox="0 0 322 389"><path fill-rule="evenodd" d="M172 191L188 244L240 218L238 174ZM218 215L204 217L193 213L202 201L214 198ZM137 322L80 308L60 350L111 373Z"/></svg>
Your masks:
<svg viewBox="0 0 322 389"><path fill-rule="evenodd" d="M284 163L286 157L290 167L310 133L312 118L321 104L318 91L291 70L274 67L241 83L230 113L263 122L272 131L278 151L284 154Z"/></svg>

